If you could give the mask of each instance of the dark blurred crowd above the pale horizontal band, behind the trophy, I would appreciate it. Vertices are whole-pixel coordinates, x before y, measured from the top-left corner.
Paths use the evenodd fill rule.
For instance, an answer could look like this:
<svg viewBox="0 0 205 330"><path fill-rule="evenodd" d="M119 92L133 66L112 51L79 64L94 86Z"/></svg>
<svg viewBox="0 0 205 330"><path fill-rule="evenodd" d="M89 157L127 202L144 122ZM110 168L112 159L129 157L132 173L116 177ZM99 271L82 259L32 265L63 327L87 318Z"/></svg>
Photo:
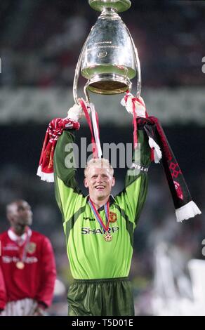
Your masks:
<svg viewBox="0 0 205 330"><path fill-rule="evenodd" d="M195 3L195 4L194 4ZM204 1L132 1L121 18L143 67L143 86L202 86ZM1 86L70 86L81 47L99 13L88 1L0 4Z"/></svg>

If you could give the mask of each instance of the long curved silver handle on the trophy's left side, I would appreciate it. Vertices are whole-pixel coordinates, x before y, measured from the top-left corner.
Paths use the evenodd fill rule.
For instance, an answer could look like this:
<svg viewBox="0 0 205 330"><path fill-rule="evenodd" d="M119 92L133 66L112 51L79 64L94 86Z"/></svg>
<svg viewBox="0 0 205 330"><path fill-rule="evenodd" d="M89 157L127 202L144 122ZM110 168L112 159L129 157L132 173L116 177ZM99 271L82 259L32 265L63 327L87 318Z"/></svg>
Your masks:
<svg viewBox="0 0 205 330"><path fill-rule="evenodd" d="M92 31L92 29L91 29L91 31ZM80 74L80 71L81 71L81 63L82 63L84 49L86 48L86 44L87 44L87 41L88 41L88 38L89 38L90 34L91 34L91 32L88 34L88 37L87 37L86 41L84 42L84 46L81 49L81 53L79 55L79 59L77 61L77 66L76 66L76 69L75 69L75 72L74 72L74 81L73 81L72 93L73 93L74 103L76 103L77 105L79 105L79 102L78 102L79 98L78 98L77 93L78 93L79 74ZM86 101L89 102L90 98L89 98L89 95L88 95L87 86L84 87L84 93L86 95Z"/></svg>

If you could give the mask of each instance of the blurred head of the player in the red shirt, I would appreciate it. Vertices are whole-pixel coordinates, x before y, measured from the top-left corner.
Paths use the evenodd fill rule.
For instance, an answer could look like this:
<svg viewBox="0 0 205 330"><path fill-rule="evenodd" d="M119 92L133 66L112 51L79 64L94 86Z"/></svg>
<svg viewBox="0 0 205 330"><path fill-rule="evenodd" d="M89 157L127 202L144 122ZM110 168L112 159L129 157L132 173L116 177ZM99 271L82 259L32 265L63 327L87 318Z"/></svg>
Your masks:
<svg viewBox="0 0 205 330"><path fill-rule="evenodd" d="M33 213L29 204L25 201L11 204L7 216L13 227L32 225Z"/></svg>

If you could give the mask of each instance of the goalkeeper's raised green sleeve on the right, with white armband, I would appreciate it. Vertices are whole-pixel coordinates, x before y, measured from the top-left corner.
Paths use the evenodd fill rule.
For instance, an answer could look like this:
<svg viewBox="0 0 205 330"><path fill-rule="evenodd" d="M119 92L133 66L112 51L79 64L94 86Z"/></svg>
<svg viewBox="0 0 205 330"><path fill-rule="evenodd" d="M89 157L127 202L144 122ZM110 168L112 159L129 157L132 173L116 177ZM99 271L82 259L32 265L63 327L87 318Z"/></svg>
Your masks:
<svg viewBox="0 0 205 330"><path fill-rule="evenodd" d="M138 129L138 147L133 153L133 164L126 173L125 189L115 199L129 221L137 225L147 196L147 171L150 166L150 146L143 128Z"/></svg>

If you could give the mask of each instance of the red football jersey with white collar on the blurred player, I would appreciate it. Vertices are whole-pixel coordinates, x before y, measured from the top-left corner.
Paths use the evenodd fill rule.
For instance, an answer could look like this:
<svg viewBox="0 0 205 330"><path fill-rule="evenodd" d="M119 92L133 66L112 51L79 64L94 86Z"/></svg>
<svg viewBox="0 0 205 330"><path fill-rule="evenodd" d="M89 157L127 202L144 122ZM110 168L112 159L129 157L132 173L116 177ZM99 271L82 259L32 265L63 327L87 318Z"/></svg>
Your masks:
<svg viewBox="0 0 205 330"><path fill-rule="evenodd" d="M56 277L51 242L30 229L16 238L12 230L0 235L0 309L23 298L51 305Z"/></svg>

